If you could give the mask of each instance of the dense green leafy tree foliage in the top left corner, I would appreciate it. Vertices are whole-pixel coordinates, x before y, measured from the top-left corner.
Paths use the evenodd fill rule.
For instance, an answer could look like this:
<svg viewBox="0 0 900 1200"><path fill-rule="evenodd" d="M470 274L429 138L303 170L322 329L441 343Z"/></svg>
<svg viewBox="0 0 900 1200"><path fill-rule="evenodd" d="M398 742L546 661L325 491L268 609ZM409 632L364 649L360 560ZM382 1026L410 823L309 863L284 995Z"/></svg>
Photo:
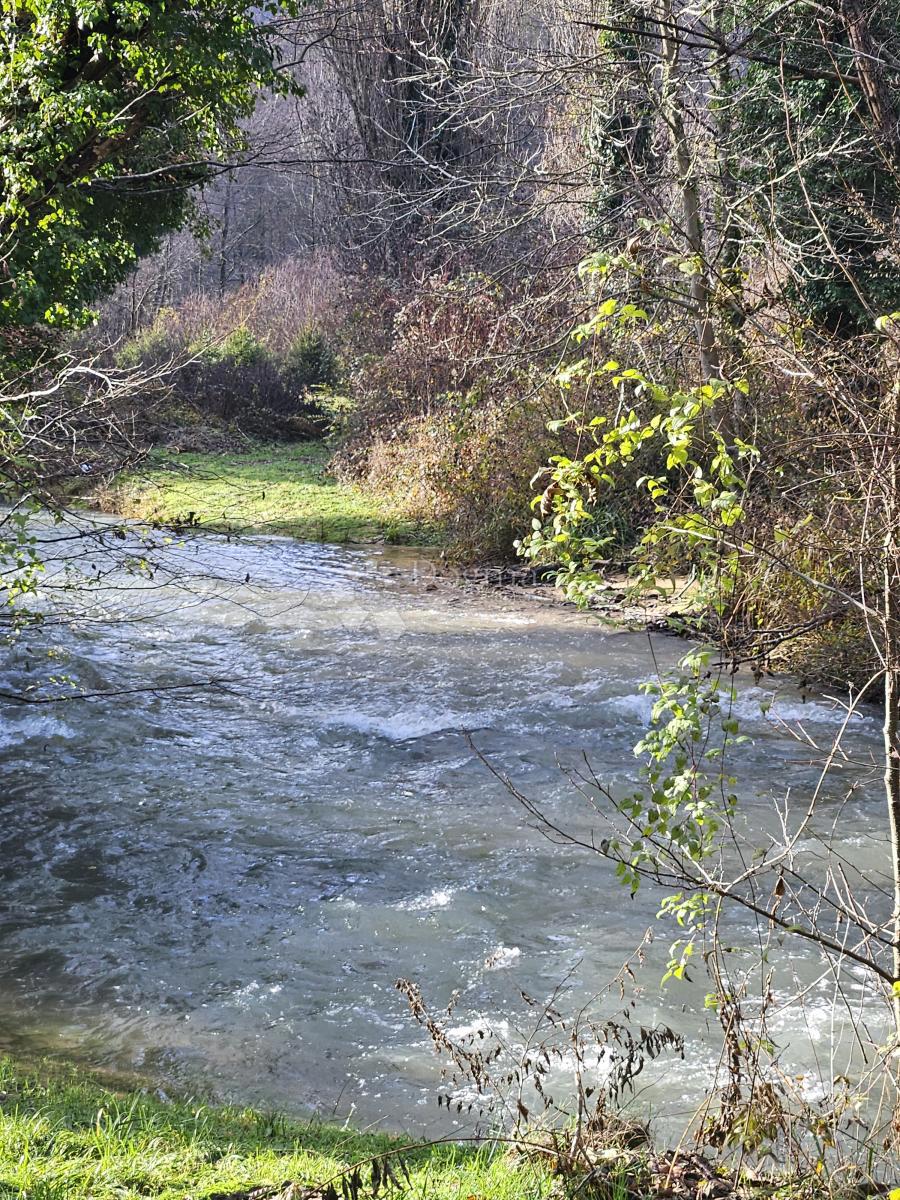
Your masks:
<svg viewBox="0 0 900 1200"><path fill-rule="evenodd" d="M288 5L290 7L290 5ZM0 16L0 324L78 325L192 214L259 89L294 90L236 0L25 0Z"/></svg>

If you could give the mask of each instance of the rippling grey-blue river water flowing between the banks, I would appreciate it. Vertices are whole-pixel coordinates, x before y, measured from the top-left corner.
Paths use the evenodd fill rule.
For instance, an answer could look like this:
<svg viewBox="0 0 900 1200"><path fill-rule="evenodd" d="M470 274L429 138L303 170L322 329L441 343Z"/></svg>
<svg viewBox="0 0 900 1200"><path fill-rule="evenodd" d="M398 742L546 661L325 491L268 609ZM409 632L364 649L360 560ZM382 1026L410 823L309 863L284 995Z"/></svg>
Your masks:
<svg viewBox="0 0 900 1200"><path fill-rule="evenodd" d="M520 990L565 982L563 1007L602 992L659 902L535 829L468 737L583 829L560 766L587 755L634 778L640 684L684 647L436 586L409 551L198 535L157 546L140 577L120 565L137 541L83 534L48 530L48 619L2 683L4 1044L359 1123L463 1122L437 1108L439 1063L395 980L438 1008L458 991L451 1026L516 1042L533 1020ZM71 572L92 587L68 592ZM17 703L36 680L119 695ZM774 718L828 738L840 713L782 688L764 718L758 695L739 703L742 800L764 824L815 774ZM877 736L875 715L854 721L860 755ZM823 803L847 853L881 864L877 785L846 799L835 784ZM667 940L625 1002L596 1002L685 1034L685 1062L642 1088L664 1120L697 1102L719 1052L702 971L660 988ZM810 984L775 1020L785 1064L829 1076L852 1042L833 982L802 946L779 954L784 979Z"/></svg>

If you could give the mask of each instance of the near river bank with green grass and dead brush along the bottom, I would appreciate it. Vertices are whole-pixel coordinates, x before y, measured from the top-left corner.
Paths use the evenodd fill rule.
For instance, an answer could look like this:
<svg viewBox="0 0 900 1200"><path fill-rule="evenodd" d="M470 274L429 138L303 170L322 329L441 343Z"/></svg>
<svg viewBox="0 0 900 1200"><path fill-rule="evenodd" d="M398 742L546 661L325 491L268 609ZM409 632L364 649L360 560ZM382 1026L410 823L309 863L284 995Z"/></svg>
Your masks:
<svg viewBox="0 0 900 1200"><path fill-rule="evenodd" d="M151 1092L138 1080L0 1058L0 1195L20 1200L895 1200L896 1189L758 1171L635 1122L424 1141Z"/></svg>

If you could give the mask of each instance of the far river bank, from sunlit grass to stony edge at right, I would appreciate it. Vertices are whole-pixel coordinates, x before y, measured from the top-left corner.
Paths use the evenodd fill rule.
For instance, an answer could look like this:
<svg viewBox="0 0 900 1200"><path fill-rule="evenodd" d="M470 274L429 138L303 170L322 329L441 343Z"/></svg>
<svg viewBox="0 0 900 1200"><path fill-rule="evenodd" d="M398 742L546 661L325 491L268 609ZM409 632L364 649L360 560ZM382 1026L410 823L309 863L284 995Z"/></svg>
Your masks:
<svg viewBox="0 0 900 1200"><path fill-rule="evenodd" d="M534 568L516 560L515 536L530 521L524 499L521 526L487 550L486 544L461 542L449 523L430 520L408 496L379 490L371 482L348 482L331 474L335 446L328 442L250 442L233 431L210 428L198 439L186 431L185 449L172 440L149 450L139 468L89 482L79 488L83 502L102 512L170 528L176 532L278 534L300 541L336 545L395 545L428 553L433 587L464 593L500 593L516 602L572 606L550 565ZM480 550L475 548L480 545ZM623 556L626 558L626 556ZM682 564L683 572L690 570ZM755 614L732 622L725 637L722 620L710 595L696 577L676 574L654 587L634 587L626 563L607 564L604 583L588 608L601 622L631 630L678 634L724 644L742 659L760 654L758 630L781 623L779 594L761 594ZM773 636L762 655L766 667L804 680L817 690L868 686L872 677L870 647L857 628L842 619L812 620L790 638Z"/></svg>

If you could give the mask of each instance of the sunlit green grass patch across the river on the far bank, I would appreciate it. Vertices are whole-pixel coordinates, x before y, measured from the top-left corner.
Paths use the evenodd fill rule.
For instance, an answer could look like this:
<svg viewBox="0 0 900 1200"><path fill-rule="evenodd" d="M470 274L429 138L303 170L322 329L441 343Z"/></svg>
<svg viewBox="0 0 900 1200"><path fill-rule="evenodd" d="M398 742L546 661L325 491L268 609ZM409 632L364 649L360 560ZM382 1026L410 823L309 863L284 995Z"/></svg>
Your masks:
<svg viewBox="0 0 900 1200"><path fill-rule="evenodd" d="M310 541L436 540L433 529L388 502L331 479L330 454L317 442L256 445L241 454L156 451L97 499L106 511L169 526Z"/></svg>

